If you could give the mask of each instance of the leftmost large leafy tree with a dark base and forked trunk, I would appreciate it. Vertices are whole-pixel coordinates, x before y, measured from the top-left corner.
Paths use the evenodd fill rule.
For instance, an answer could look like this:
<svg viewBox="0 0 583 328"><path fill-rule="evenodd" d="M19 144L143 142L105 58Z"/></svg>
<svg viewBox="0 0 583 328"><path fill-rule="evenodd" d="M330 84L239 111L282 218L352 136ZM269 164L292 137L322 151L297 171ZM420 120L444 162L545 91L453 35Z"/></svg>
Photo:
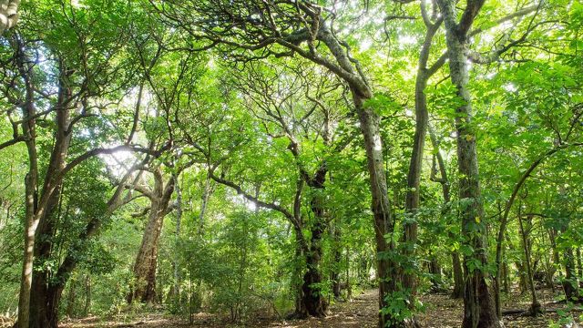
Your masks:
<svg viewBox="0 0 583 328"><path fill-rule="evenodd" d="M112 9L118 11L112 12L108 19L101 19L96 13L93 20L86 22L95 24L99 21L101 24L100 40L96 45L88 46L86 26L76 19L85 15L85 10L72 5L64 5L57 12L51 11L50 5L38 5L30 12L36 21L26 17L26 29L22 28L19 33L9 36L10 55L3 66L2 75L5 86L3 96L22 114L20 119L15 120L14 110L6 112L14 133L12 139L2 143L2 148L24 142L29 165L25 181L25 260L18 320L21 327L56 325L56 303L62 288L56 286L51 292L54 296L48 296L47 272L40 271L35 275L32 268L33 255L37 261L43 261L49 256L49 239L56 229L55 210L67 173L100 154L112 154L122 149L150 152L132 145L131 138L118 147L104 147L98 139L87 140L81 132L83 129L99 127L99 122L92 118L101 116L107 119L104 113L110 105L103 105L97 98L107 99L120 92L131 77L131 74L118 75L122 67L130 67L123 58L120 60L124 36L118 32L118 27L114 27L127 23L129 14L124 11L123 5L118 5L112 6ZM56 19L51 20L51 17ZM45 20L53 22L51 34L38 38L37 31L46 29L39 22ZM58 36L65 35L74 37L68 43L61 43ZM110 48L111 45L118 46ZM48 58L46 67L40 65L41 56ZM116 65L112 65L114 61ZM44 143L40 137L45 128L48 138L54 138L48 151L39 149L39 143ZM70 158L72 147L74 152L71 155L74 157ZM39 186L41 182L42 186ZM42 242L36 242L36 236ZM66 263L65 267L68 265ZM64 270L68 272L69 269ZM29 313L31 302L39 307L39 311Z"/></svg>

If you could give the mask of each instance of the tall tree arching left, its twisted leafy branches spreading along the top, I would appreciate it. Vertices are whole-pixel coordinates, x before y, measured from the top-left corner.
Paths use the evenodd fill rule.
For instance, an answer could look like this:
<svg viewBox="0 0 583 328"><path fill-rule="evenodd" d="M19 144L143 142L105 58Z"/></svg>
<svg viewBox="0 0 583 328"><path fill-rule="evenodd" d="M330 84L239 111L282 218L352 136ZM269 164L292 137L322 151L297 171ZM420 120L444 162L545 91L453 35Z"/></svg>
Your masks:
<svg viewBox="0 0 583 328"><path fill-rule="evenodd" d="M298 55L329 69L350 87L354 111L360 122L367 154L377 245L379 276L379 326L391 323L386 297L397 290L394 242L385 236L394 230L391 203L384 174L380 116L366 100L373 97L368 78L351 56L350 46L338 38L333 11L311 2L194 0L156 5L155 9L171 26L218 46L230 57L252 60L265 56ZM277 15L276 15L277 13ZM230 55L229 55L230 54ZM384 311L381 311L384 309Z"/></svg>

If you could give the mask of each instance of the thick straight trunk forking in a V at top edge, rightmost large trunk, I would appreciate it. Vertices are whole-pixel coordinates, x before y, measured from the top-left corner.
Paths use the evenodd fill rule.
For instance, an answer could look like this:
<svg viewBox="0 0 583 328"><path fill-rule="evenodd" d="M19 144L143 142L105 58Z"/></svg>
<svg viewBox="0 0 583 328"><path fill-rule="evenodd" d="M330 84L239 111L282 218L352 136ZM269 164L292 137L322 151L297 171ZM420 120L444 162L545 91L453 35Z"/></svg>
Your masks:
<svg viewBox="0 0 583 328"><path fill-rule="evenodd" d="M472 98L468 90L467 32L479 12L484 0L468 2L460 24L457 23L457 9L454 0L438 0L444 15L445 38L449 55L449 70L457 96L464 104L456 108L455 128L457 130L457 164L459 169L459 200L462 216L462 234L473 253L464 258L465 328L500 327L496 315L496 304L488 287L486 218L480 194L476 131L471 127ZM476 267L474 263L479 263Z"/></svg>

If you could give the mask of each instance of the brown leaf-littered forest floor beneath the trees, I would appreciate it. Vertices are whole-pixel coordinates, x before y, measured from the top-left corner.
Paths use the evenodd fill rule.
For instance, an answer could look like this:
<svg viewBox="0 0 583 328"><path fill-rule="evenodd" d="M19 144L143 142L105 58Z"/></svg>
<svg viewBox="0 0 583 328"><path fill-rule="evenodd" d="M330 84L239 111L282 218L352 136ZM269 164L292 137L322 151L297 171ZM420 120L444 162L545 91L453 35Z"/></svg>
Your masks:
<svg viewBox="0 0 583 328"><path fill-rule="evenodd" d="M554 301L556 292L550 290L537 291L543 307L549 309L564 308L564 304ZM325 318L310 318L305 320L251 320L245 325L226 323L216 315L199 313L194 318L194 324L185 323L183 318L170 316L164 313L145 313L142 316L132 318L113 318L111 321L102 321L97 317L74 320L61 324L66 328L99 328L99 327L138 327L138 328L164 328L164 327L281 327L281 328L335 328L335 327L376 327L377 320L377 292L370 290L353 297L352 302L336 302L330 309L330 314ZM460 327L462 323L464 304L461 300L452 300L446 294L426 294L421 296L421 302L425 304L424 313L418 315L418 321L426 328ZM527 295L512 294L503 300L504 309L527 309L529 299ZM565 314L565 315L568 315ZM575 320L579 322L578 313L574 313ZM557 322L557 313L546 313L537 317L521 314L505 315L506 328L535 328L548 327L551 322ZM575 328L575 325L562 325Z"/></svg>

